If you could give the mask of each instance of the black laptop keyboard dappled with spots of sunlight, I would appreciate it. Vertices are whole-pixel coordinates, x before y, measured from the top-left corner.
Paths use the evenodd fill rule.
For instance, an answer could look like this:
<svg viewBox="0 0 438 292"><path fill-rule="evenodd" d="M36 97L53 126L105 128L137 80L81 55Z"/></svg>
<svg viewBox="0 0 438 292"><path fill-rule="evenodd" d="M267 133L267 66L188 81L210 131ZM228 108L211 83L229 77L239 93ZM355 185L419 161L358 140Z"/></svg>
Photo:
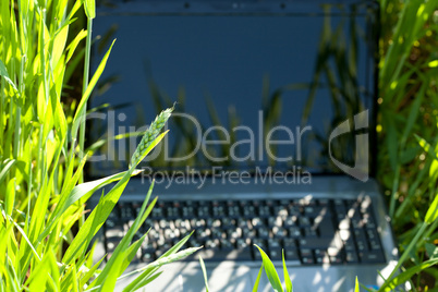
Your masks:
<svg viewBox="0 0 438 292"><path fill-rule="evenodd" d="M119 203L105 223L108 256L136 218L142 202ZM150 230L149 230L150 229ZM370 199L158 200L134 240L146 240L135 261L157 259L194 231L185 260L271 260L296 265L385 263Z"/></svg>

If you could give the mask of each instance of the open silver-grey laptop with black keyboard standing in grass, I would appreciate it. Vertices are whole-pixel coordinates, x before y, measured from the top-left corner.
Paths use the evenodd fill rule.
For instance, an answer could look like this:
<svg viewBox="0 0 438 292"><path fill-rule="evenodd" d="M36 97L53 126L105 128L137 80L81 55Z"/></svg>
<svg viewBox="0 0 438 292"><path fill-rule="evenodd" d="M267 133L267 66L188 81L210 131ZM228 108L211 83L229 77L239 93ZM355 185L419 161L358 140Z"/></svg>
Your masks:
<svg viewBox="0 0 438 292"><path fill-rule="evenodd" d="M111 255L155 180L159 199L141 229L150 231L127 272L191 231L186 247L204 248L162 267L147 291L204 291L198 256L210 291L252 291L254 244L281 279L284 251L295 291L382 283L397 248L374 177L376 2L107 0L97 14L95 68L117 41L89 139L118 138L90 158L89 177L125 170L141 139L132 133L174 107L97 256ZM265 273L258 291L271 291Z"/></svg>

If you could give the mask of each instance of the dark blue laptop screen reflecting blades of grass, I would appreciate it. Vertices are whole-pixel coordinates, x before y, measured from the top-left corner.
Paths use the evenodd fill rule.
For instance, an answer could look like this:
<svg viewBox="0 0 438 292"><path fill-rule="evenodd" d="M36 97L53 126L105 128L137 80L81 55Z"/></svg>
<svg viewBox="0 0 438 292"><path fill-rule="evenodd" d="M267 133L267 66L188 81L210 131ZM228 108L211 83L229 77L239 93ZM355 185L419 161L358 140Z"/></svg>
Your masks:
<svg viewBox="0 0 438 292"><path fill-rule="evenodd" d="M90 159L90 175L125 170L141 141L132 134L169 107L170 132L141 168L354 169L372 149L364 145L375 104L368 9L254 1L101 5L94 69L117 41L89 102L97 109L87 120L89 139L108 139ZM364 161L366 171L370 161Z"/></svg>

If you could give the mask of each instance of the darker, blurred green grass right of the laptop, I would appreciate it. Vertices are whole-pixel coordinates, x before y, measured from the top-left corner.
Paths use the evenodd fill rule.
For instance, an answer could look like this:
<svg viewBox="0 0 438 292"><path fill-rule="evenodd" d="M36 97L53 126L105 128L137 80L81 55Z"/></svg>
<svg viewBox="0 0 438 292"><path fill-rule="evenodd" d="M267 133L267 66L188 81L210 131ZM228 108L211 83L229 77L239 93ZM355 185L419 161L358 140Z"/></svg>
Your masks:
<svg viewBox="0 0 438 292"><path fill-rule="evenodd" d="M424 291L438 284L438 3L380 4L378 178L401 252L399 276L392 273L380 290L410 281Z"/></svg>

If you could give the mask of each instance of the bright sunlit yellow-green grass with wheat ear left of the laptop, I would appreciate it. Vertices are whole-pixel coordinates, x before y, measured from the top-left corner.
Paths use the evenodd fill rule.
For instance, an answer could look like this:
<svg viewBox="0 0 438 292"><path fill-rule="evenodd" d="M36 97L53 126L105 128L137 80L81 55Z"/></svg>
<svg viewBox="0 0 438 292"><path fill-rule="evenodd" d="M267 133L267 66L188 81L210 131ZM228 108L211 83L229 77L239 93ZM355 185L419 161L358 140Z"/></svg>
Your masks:
<svg viewBox="0 0 438 292"><path fill-rule="evenodd" d="M75 14L85 9L88 29L68 42ZM130 169L83 183L85 113L112 45L88 82L94 1L0 2L0 263L1 291L112 290L146 234L132 242L149 215L153 186L135 222L102 270L93 263L93 238L117 204L135 167L162 139L171 114L161 112L146 131ZM82 98L74 110L61 102L66 84L84 52ZM115 182L85 220L86 202L98 188ZM73 231L77 226L78 231ZM187 236L188 238L188 236ZM158 268L196 248L178 252L183 239L157 261L145 266L125 291L159 276Z"/></svg>

